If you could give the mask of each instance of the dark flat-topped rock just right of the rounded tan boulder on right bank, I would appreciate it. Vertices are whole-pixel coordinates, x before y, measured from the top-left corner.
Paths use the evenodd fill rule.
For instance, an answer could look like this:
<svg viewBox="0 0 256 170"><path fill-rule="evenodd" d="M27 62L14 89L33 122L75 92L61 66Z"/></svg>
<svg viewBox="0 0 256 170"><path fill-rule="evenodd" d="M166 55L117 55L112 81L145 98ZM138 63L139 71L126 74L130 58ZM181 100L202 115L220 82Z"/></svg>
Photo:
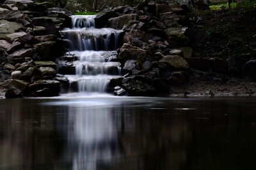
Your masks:
<svg viewBox="0 0 256 170"><path fill-rule="evenodd" d="M212 59L206 57L190 57L186 58L189 66L193 69L208 71L212 69Z"/></svg>

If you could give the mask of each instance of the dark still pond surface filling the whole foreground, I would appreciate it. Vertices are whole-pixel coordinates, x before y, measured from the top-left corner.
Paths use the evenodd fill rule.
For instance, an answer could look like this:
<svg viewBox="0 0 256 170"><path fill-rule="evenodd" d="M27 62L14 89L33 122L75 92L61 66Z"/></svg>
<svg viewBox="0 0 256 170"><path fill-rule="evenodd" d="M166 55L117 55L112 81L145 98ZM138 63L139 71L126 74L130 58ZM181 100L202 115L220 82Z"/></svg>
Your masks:
<svg viewBox="0 0 256 170"><path fill-rule="evenodd" d="M255 169L256 98L0 100L0 169Z"/></svg>

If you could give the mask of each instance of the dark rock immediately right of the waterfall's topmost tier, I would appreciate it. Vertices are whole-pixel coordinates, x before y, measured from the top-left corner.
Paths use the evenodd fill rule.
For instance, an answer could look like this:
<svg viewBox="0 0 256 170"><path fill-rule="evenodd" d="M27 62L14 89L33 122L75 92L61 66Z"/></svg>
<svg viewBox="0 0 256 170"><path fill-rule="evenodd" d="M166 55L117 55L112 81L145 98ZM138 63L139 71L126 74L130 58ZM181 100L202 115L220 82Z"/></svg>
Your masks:
<svg viewBox="0 0 256 170"><path fill-rule="evenodd" d="M117 17L115 10L104 10L101 13L97 14L95 17L95 27L102 28L104 27L110 18Z"/></svg>

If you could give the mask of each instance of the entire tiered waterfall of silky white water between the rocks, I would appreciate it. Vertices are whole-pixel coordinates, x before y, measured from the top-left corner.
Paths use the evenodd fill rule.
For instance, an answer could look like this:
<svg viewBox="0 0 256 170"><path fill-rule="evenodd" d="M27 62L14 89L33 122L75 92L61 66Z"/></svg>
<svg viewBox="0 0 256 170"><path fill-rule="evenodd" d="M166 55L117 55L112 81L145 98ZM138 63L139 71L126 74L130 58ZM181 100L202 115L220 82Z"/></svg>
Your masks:
<svg viewBox="0 0 256 170"><path fill-rule="evenodd" d="M70 41L70 53L76 74L67 75L71 83L77 84L78 92L106 92L111 78L120 76L120 63L107 62L118 48L122 31L111 28L96 29L95 16L76 15L72 17L72 29L61 31Z"/></svg>

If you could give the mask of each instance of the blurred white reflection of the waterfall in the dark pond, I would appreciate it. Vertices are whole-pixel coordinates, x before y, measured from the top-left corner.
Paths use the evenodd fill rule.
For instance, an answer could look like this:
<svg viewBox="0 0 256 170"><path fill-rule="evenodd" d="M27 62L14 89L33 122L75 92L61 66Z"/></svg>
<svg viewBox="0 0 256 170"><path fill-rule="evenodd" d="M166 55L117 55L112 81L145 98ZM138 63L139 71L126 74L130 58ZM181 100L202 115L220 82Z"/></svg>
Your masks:
<svg viewBox="0 0 256 170"><path fill-rule="evenodd" d="M70 107L68 146L73 170L97 169L97 165L110 163L118 155L111 109L98 104Z"/></svg>

